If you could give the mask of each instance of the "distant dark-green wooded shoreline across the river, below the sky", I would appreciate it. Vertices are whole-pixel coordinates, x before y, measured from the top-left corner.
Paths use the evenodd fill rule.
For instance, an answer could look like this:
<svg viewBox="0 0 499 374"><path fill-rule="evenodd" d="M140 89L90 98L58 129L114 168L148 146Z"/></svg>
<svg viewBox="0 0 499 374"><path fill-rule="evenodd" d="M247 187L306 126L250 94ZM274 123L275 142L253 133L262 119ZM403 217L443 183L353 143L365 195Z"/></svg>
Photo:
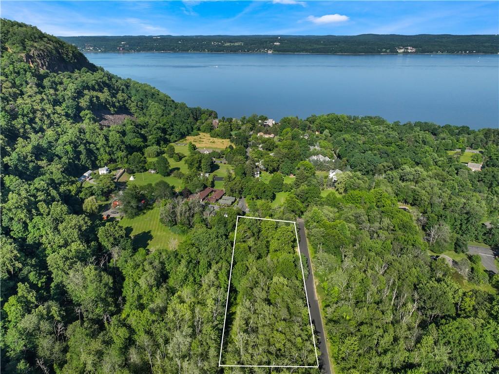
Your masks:
<svg viewBox="0 0 499 374"><path fill-rule="evenodd" d="M498 53L498 35L61 36L85 52ZM412 49L413 48L413 49Z"/></svg>

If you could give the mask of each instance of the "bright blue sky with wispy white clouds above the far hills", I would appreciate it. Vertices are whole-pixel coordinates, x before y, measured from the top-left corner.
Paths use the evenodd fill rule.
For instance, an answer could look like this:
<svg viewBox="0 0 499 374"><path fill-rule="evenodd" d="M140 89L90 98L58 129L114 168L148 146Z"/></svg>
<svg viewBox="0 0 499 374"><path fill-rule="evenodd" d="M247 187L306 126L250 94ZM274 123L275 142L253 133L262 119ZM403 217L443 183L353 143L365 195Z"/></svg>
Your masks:
<svg viewBox="0 0 499 374"><path fill-rule="evenodd" d="M57 36L499 33L499 1L1 1Z"/></svg>

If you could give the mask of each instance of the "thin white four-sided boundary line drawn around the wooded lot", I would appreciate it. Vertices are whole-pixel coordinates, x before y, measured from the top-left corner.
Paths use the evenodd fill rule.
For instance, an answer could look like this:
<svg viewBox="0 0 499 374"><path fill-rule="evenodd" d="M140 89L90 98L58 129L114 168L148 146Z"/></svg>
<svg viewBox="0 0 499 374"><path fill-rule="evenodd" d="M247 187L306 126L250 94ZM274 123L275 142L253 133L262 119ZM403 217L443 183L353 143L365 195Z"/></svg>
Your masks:
<svg viewBox="0 0 499 374"><path fill-rule="evenodd" d="M222 365L222 350L224 347L224 335L225 335L225 323L227 320L227 308L229 307L229 292L231 291L231 277L232 277L232 267L234 265L234 250L236 249L236 237L238 234L238 222L240 218L250 218L263 221L276 221L276 222L287 222L294 225L294 234L296 235L296 248L298 251L298 257L300 259L301 275L303 277L303 289L305 290L305 298L307 300L308 309L308 319L310 321L310 331L312 332L313 347L315 350L315 360L317 361L316 366L291 366L291 365ZM315 344L315 335L313 333L312 317L310 314L310 306L308 304L307 287L305 284L305 273L303 272L303 264L301 262L300 253L300 242L298 240L298 231L296 230L296 222L294 221L284 221L284 220L274 220L270 218L259 218L259 217L249 217L249 216L238 216L236 218L236 230L234 232L234 244L232 246L232 259L231 259L231 271L229 273L229 286L227 287L227 301L225 304L225 316L224 316L224 326L222 329L222 342L220 343L220 357L219 357L219 367L233 367L233 368L318 368L319 367L319 357L317 356L317 345Z"/></svg>

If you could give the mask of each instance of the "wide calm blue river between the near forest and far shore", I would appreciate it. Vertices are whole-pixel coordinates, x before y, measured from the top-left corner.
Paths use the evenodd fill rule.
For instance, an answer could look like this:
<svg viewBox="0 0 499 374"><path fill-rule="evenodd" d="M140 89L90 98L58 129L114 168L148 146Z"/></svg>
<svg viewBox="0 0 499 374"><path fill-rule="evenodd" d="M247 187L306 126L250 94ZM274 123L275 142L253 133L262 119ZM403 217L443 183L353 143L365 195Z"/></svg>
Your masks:
<svg viewBox="0 0 499 374"><path fill-rule="evenodd" d="M471 128L499 126L498 55L87 53L219 116L379 115Z"/></svg>

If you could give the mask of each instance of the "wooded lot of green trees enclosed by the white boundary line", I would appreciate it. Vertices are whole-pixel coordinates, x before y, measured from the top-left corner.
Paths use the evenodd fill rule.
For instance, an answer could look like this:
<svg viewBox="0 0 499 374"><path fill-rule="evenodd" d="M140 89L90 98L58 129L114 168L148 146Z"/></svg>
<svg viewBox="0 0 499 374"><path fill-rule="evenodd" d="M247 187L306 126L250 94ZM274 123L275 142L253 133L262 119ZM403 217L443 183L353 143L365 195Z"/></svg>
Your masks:
<svg viewBox="0 0 499 374"><path fill-rule="evenodd" d="M294 222L238 216L219 366L318 367Z"/></svg>

